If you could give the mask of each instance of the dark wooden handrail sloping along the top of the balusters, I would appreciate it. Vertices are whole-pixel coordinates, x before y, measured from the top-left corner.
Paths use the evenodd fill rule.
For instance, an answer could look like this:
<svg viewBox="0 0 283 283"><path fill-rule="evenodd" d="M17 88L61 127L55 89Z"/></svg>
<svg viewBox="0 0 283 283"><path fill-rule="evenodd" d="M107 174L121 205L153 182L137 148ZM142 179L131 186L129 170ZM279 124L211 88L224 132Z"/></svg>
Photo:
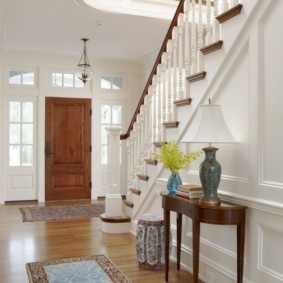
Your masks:
<svg viewBox="0 0 283 283"><path fill-rule="evenodd" d="M153 76L156 74L157 66L158 66L158 64L161 63L162 54L163 54L163 52L166 51L167 42L168 42L168 40L170 40L170 39L172 38L172 31L173 31L173 28L174 28L175 26L177 26L177 23L178 23L178 16L179 16L180 13L183 13L183 12L184 12L184 2L185 2L185 0L180 0L180 3L179 3L179 5L178 5L178 7L177 7L177 10L176 10L176 12L175 12L174 18L173 18L173 20L172 20L172 22L171 22L171 25L170 25L170 27L169 27L169 29L168 29L168 31L167 31L167 34L166 34L165 39L164 39L164 41L163 41L163 44L162 44L162 46L161 46L161 48L160 48L160 51L159 51L159 54L158 54L157 59L156 59L156 61L155 61L155 64L154 64L154 66L153 66L153 68L152 68L152 71L151 71L151 73L150 73L150 76L149 76L149 78L148 78L148 81L147 81L147 83L146 83L146 85L145 85L144 91L143 91L143 93L142 93L142 96L141 96L140 101L139 101L139 103L138 103L138 106L137 106L137 108L136 108L136 111L135 111L135 113L134 113L134 116L133 116L133 118L132 118L132 121L131 121L131 123L130 123L130 125L129 125L129 128L128 128L127 132L126 132L125 134L120 135L120 140L126 140L126 139L130 136L130 132L131 132L131 130L133 129L134 123L136 122L137 116L138 116L138 114L139 114L139 112L140 112L140 108L141 108L141 106L144 104L144 98L145 98L145 96L147 95L148 88L149 88L149 86L152 84Z"/></svg>

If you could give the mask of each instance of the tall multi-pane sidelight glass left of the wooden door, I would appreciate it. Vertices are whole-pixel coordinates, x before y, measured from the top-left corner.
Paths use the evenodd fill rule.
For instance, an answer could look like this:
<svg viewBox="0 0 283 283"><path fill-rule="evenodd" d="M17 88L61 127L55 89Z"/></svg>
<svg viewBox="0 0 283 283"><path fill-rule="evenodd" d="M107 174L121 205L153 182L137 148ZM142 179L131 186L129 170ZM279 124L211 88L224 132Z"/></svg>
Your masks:
<svg viewBox="0 0 283 283"><path fill-rule="evenodd" d="M9 165L33 166L34 105L30 101L9 103Z"/></svg>

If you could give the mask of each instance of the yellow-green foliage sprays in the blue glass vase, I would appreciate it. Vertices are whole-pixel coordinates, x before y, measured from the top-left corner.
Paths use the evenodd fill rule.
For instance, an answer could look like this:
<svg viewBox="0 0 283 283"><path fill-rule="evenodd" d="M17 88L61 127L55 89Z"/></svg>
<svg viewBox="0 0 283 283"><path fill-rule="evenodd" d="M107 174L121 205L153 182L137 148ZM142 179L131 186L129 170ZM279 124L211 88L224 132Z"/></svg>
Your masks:
<svg viewBox="0 0 283 283"><path fill-rule="evenodd" d="M185 154L175 140L162 144L160 153L155 153L153 158L163 164L163 167L176 175L179 170L184 169L187 164L200 157L202 151Z"/></svg>

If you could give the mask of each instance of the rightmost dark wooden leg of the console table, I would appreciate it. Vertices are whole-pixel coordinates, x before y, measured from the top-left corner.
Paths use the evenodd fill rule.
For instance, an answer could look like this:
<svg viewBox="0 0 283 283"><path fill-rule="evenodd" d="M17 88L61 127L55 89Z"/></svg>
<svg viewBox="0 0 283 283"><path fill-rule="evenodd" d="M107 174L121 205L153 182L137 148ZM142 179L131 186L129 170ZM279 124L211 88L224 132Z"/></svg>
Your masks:
<svg viewBox="0 0 283 283"><path fill-rule="evenodd" d="M243 282L245 248L245 221L237 225L237 282Z"/></svg>

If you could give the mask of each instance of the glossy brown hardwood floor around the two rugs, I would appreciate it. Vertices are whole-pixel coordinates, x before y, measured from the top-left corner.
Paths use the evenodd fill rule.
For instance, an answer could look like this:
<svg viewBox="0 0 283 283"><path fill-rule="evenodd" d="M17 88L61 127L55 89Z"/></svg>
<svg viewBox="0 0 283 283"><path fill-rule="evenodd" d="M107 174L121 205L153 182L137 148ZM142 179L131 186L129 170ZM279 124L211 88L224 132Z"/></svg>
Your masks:
<svg viewBox="0 0 283 283"><path fill-rule="evenodd" d="M90 201L48 202L45 205L86 204ZM36 203L0 206L0 282L28 283L25 264L56 258L105 254L132 282L165 282L163 271L139 269L135 237L106 234L98 217L76 221L23 223L19 207ZM40 204L44 205L44 204ZM169 282L192 282L187 271L172 263Z"/></svg>

